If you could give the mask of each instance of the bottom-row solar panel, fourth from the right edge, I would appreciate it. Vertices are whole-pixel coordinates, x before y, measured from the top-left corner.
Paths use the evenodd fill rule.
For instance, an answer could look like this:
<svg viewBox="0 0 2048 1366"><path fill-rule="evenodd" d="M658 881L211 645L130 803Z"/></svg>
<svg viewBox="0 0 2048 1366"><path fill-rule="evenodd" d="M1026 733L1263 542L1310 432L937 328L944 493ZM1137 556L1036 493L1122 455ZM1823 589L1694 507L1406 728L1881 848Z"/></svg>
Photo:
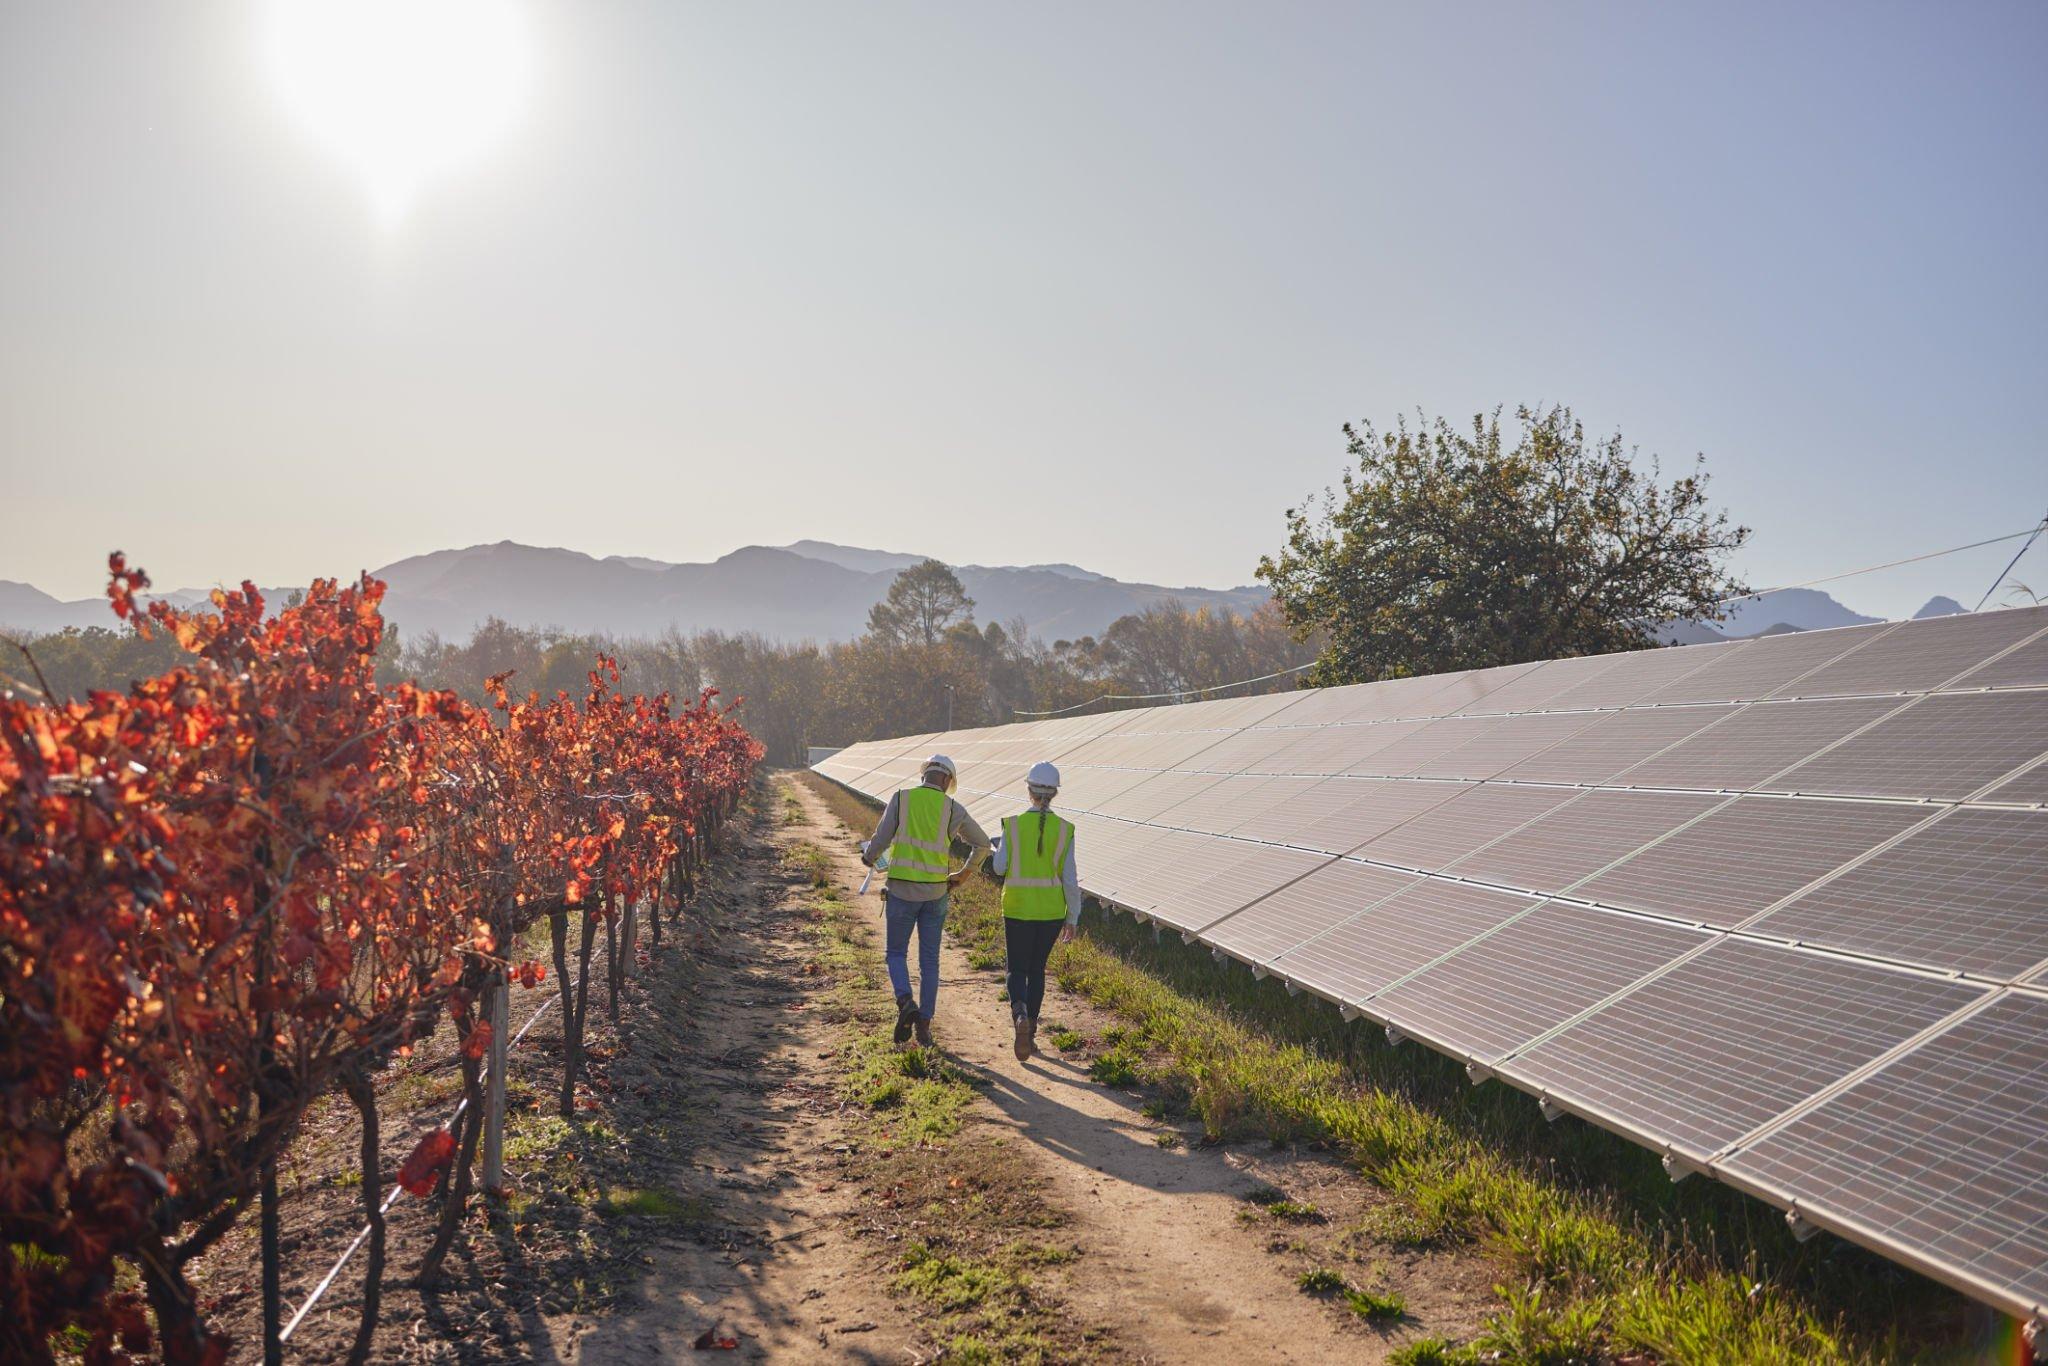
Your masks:
<svg viewBox="0 0 2048 1366"><path fill-rule="evenodd" d="M1272 967L1323 995L1362 1001L1534 905L1530 897L1427 881L1288 948Z"/></svg>

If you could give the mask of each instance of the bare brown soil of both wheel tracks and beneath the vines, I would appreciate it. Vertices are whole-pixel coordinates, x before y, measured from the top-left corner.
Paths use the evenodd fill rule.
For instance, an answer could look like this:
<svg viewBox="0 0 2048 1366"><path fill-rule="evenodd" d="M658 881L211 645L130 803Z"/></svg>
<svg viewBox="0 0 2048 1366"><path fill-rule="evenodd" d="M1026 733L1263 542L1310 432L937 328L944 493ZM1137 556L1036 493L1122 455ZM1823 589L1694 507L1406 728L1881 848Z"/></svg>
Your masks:
<svg viewBox="0 0 2048 1366"><path fill-rule="evenodd" d="M899 1233L872 1219L877 1192L852 1161L860 1114L844 1098L846 1026L817 1010L813 891L786 858L801 842L825 848L852 897L856 838L807 786L772 784L774 801L727 836L682 928L666 928L662 952L641 946L616 1026L600 938L578 1124L553 1118L557 1008L514 1053L514 1194L496 1208L479 1202L434 1290L408 1278L438 1206L399 1196L373 1360L932 1358L926 1311L891 1290ZM801 801L803 823L778 819L784 793ZM879 944L881 897L856 905ZM551 975L543 991L553 987ZM1145 1092L1094 1083L1085 1051L1061 1055L1051 1028L1044 1055L1020 1065L1001 987L999 973L971 969L948 944L938 1044L981 1081L971 1128L1004 1139L1020 1186L1065 1219L1061 1239L1077 1255L1042 1272L1049 1303L1077 1321L1061 1341L1133 1362L1372 1362L1419 1335L1468 1337L1495 1305L1483 1260L1362 1235L1376 1194L1333 1155L1204 1147L1196 1128L1147 1118ZM541 999L516 993L514 1028ZM1044 1018L1092 1042L1116 1024L1057 985ZM449 1034L381 1081L387 1188L412 1143L455 1106ZM354 1147L354 1112L324 1106L285 1167L289 1307L360 1229L360 1190L346 1178ZM1262 1192L1317 1214L1276 1219L1253 1200ZM1407 1317L1380 1327L1305 1294L1296 1278L1313 1266L1399 1292ZM254 1268L246 1219L201 1272L215 1321L236 1333L233 1360L260 1360ZM358 1292L360 1253L287 1358L342 1360Z"/></svg>

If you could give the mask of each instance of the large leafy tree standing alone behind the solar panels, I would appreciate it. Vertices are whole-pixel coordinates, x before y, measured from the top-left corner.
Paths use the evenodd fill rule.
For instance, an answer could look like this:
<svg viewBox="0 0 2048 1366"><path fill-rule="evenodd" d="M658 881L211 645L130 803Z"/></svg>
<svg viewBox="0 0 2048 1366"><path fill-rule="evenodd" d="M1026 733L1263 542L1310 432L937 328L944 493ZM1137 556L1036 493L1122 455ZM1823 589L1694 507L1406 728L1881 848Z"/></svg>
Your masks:
<svg viewBox="0 0 2048 1366"><path fill-rule="evenodd" d="M1706 457L1663 483L1569 408L1350 426L1341 489L1288 510L1260 559L1296 635L1325 631L1311 682L1343 684L1640 649L1665 621L1720 621L1745 592L1726 557L1749 539L1706 500Z"/></svg>

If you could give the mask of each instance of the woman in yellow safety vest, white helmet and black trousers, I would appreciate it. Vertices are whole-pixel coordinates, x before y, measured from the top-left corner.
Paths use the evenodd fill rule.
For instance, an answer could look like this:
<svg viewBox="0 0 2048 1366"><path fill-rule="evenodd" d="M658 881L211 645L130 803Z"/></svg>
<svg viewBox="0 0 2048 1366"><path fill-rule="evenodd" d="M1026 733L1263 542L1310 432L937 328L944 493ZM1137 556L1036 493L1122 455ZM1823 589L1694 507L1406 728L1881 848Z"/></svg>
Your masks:
<svg viewBox="0 0 2048 1366"><path fill-rule="evenodd" d="M1004 942L1010 950L1010 1014L1016 1055L1038 1051L1038 1006L1053 944L1073 938L1081 920L1081 874L1073 862L1073 821L1053 815L1059 770L1032 764L1024 776L1030 809L1004 821L995 872L1004 879Z"/></svg>

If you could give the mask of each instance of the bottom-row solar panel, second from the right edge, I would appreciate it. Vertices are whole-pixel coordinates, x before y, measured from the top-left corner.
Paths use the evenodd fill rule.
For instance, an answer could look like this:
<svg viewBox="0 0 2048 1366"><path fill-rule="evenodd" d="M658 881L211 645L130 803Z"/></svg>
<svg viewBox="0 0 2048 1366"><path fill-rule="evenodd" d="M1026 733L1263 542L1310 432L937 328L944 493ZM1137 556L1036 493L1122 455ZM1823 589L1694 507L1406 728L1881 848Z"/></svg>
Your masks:
<svg viewBox="0 0 2048 1366"><path fill-rule="evenodd" d="M1704 1159L1978 995L1956 981L1722 940L1507 1069Z"/></svg>

